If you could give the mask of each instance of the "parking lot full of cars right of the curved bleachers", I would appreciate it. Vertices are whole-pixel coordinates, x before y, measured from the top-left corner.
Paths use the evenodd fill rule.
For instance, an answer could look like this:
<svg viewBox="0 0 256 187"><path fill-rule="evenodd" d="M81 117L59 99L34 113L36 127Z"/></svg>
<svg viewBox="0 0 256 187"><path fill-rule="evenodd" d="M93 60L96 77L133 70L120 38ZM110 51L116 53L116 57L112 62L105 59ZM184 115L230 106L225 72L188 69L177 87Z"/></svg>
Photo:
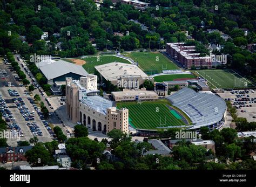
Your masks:
<svg viewBox="0 0 256 187"><path fill-rule="evenodd" d="M225 91L218 94L237 108L238 117L245 117L248 122L256 121L256 92L253 89Z"/></svg>

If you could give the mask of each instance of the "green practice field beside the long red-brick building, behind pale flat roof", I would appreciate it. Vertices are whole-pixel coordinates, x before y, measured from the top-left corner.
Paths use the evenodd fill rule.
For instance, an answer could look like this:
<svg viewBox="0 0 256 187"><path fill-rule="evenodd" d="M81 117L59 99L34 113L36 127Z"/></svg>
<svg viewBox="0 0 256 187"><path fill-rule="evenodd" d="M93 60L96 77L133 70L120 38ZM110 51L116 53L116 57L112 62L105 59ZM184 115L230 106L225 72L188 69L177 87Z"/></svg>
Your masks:
<svg viewBox="0 0 256 187"><path fill-rule="evenodd" d="M159 52L131 52L127 57L139 62L139 67L148 75L162 73L163 70L178 70L176 64Z"/></svg>

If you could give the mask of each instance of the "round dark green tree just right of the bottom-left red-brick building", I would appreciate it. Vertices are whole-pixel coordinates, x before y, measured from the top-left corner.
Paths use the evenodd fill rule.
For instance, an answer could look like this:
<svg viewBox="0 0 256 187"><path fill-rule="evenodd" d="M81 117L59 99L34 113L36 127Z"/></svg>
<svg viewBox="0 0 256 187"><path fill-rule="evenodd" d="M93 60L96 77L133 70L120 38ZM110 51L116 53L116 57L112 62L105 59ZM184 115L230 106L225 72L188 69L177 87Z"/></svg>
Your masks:
<svg viewBox="0 0 256 187"><path fill-rule="evenodd" d="M46 165L51 161L49 151L41 143L26 151L25 157L33 166Z"/></svg>

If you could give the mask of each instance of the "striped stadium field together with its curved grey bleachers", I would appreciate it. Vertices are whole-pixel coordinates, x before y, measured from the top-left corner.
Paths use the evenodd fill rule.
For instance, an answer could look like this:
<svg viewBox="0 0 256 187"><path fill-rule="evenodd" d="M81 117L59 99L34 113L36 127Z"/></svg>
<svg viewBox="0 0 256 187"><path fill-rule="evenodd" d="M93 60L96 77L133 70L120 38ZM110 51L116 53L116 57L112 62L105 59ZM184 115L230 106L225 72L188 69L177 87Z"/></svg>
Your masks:
<svg viewBox="0 0 256 187"><path fill-rule="evenodd" d="M190 88L155 101L118 102L129 109L129 124L140 135L152 135L160 129L220 128L226 118L226 103L213 93L195 92Z"/></svg>

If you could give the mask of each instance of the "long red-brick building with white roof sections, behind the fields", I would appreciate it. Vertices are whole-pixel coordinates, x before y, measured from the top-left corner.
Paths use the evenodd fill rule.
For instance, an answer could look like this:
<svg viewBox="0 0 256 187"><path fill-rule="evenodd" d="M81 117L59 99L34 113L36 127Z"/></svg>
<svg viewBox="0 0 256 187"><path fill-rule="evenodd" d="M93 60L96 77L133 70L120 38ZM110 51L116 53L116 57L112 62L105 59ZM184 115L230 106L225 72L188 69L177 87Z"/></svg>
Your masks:
<svg viewBox="0 0 256 187"><path fill-rule="evenodd" d="M190 69L195 67L211 67L211 57L200 57L196 52L196 46L186 46L185 43L167 43L166 53L176 59L183 67Z"/></svg>

